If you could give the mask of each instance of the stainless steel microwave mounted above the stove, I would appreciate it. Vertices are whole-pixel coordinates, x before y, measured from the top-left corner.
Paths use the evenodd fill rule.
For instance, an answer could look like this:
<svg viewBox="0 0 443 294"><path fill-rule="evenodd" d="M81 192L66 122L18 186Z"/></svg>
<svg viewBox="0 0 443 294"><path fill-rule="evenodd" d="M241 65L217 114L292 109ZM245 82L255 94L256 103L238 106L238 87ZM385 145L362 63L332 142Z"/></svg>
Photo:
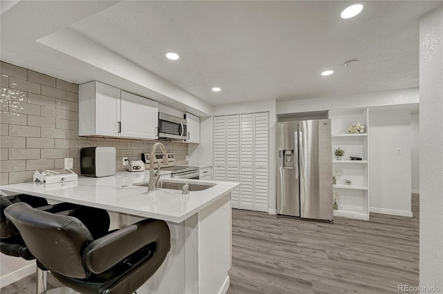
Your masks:
<svg viewBox="0 0 443 294"><path fill-rule="evenodd" d="M186 119L159 112L159 139L188 139Z"/></svg>

